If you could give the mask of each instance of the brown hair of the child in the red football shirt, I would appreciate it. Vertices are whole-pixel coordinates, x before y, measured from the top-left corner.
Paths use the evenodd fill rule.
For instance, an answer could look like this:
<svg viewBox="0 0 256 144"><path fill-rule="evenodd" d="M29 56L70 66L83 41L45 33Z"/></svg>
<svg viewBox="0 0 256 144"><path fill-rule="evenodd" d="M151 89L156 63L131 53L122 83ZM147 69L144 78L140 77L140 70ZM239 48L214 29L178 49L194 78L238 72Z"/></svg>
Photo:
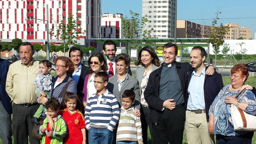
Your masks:
<svg viewBox="0 0 256 144"><path fill-rule="evenodd" d="M75 109L78 109L79 111L81 111L82 110L81 100L78 98L78 96L74 92L69 92L69 91L67 91L63 95L63 99L60 104L60 109L67 108L67 105L65 104L65 102L68 102L69 100L72 100L72 99L76 100L76 108Z"/></svg>

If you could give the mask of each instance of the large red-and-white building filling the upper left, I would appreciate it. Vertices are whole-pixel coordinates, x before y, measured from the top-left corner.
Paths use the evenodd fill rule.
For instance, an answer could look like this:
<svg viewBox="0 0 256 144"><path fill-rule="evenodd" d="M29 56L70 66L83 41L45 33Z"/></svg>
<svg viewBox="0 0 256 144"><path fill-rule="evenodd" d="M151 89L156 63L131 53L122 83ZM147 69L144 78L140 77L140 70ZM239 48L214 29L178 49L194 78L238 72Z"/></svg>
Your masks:
<svg viewBox="0 0 256 144"><path fill-rule="evenodd" d="M100 38L101 0L0 0L0 38L11 42L20 38L31 43L43 43L47 39L46 4L49 9L49 29L56 33L61 20L71 13L80 21L77 26L86 30L82 39ZM41 20L39 20L41 19ZM50 43L59 42L49 35ZM90 42L90 41L89 41ZM81 41L79 41L81 43ZM86 44L83 40L81 44Z"/></svg>

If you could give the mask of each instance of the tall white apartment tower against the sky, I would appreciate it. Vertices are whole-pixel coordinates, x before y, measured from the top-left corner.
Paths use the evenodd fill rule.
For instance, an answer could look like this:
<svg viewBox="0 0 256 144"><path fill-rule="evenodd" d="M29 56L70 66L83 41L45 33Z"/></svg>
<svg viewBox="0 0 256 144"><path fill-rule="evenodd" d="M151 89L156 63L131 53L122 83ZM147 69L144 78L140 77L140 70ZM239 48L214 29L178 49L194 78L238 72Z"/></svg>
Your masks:
<svg viewBox="0 0 256 144"><path fill-rule="evenodd" d="M174 38L175 0L142 0L142 16L148 15L145 29L151 31L151 37Z"/></svg>

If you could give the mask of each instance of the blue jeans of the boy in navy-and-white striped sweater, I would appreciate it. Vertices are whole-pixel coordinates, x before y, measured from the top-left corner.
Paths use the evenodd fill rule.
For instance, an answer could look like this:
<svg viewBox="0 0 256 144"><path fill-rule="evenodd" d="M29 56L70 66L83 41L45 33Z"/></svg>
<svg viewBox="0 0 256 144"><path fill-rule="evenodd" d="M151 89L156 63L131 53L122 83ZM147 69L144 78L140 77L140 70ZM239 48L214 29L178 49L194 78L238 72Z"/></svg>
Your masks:
<svg viewBox="0 0 256 144"><path fill-rule="evenodd" d="M113 142L114 134L108 129L96 129L91 127L88 133L89 143L111 144Z"/></svg>

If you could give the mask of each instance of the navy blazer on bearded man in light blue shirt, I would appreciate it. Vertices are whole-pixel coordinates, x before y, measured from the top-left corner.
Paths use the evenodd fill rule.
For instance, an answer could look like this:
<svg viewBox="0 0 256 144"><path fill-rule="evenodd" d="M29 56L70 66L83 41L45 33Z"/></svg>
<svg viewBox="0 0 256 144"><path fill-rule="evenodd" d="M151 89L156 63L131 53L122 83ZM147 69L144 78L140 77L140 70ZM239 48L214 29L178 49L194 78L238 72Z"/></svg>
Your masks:
<svg viewBox="0 0 256 144"><path fill-rule="evenodd" d="M205 71L208 67L205 67ZM192 77L193 70L190 70L188 72L188 85L187 85L187 91L190 79ZM223 87L222 77L219 73L214 73L212 76L205 75L204 78L204 102L205 102L205 111L206 111L206 119L209 121L209 109L212 105L213 100L218 95L220 90ZM185 98L186 104L188 103L188 95L187 98Z"/></svg>

